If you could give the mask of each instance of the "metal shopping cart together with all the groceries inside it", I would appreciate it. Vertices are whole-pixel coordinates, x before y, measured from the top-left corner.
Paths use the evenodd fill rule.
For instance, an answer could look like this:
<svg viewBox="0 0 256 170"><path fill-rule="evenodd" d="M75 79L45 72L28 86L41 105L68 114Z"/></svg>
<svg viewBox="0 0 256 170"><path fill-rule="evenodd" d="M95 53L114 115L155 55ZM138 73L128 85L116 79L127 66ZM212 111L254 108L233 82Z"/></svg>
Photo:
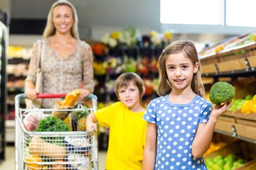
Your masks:
<svg viewBox="0 0 256 170"><path fill-rule="evenodd" d="M49 95L38 95L48 98ZM50 94L50 98L65 94ZM97 170L97 133L85 131L85 120L96 111L97 97L87 96L89 106L73 108L21 108L25 94L15 98L16 170Z"/></svg>

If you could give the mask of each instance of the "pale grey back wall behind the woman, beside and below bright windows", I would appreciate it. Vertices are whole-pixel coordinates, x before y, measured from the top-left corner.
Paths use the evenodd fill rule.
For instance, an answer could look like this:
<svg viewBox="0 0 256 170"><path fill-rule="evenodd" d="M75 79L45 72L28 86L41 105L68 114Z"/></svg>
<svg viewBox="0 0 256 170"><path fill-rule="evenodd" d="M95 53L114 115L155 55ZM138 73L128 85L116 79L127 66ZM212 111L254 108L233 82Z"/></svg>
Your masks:
<svg viewBox="0 0 256 170"><path fill-rule="evenodd" d="M46 18L55 0L0 0L9 2L11 18ZM98 40L102 32L135 26L140 30L174 30L177 38L218 41L255 28L161 24L159 0L70 0L78 11L80 38ZM95 30L95 28L99 28ZM211 38L211 39L209 39Z"/></svg>

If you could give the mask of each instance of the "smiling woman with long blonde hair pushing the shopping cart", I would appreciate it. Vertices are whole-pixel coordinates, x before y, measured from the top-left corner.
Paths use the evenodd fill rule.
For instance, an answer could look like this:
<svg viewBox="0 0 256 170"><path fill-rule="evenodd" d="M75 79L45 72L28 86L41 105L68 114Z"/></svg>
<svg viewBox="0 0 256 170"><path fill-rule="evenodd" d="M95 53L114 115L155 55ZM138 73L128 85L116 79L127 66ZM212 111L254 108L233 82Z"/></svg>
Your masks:
<svg viewBox="0 0 256 170"><path fill-rule="evenodd" d="M78 16L73 4L66 0L55 1L48 13L41 42L45 44L41 56L43 94L63 94L81 89L80 98L85 98L93 92L92 49L79 40ZM34 43L25 81L25 94L30 99L35 99L38 93L35 90L38 62L38 43ZM52 108L56 100L59 99L44 99L43 108Z"/></svg>

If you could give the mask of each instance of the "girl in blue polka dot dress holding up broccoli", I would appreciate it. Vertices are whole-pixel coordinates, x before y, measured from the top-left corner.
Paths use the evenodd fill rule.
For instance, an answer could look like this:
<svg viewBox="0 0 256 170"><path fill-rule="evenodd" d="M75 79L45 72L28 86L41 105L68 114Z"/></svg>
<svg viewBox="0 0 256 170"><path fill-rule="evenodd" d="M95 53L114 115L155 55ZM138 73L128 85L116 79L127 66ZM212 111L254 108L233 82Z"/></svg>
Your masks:
<svg viewBox="0 0 256 170"><path fill-rule="evenodd" d="M172 42L159 57L159 98L146 108L146 145L142 169L207 169L203 154L210 146L219 115L228 111L203 97L201 67L190 40Z"/></svg>

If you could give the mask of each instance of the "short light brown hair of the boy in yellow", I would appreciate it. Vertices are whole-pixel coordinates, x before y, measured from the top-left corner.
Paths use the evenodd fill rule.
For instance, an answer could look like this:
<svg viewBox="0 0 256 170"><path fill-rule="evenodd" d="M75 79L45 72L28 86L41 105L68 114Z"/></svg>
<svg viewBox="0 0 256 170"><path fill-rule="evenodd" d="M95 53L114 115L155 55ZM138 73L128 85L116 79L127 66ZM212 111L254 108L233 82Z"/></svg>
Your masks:
<svg viewBox="0 0 256 170"><path fill-rule="evenodd" d="M123 73L117 78L117 81L114 84L114 92L117 95L117 98L119 98L119 89L121 87L127 88L131 82L133 82L134 85L139 89L139 96L142 100L142 96L145 92L144 82L142 78L134 72Z"/></svg>

